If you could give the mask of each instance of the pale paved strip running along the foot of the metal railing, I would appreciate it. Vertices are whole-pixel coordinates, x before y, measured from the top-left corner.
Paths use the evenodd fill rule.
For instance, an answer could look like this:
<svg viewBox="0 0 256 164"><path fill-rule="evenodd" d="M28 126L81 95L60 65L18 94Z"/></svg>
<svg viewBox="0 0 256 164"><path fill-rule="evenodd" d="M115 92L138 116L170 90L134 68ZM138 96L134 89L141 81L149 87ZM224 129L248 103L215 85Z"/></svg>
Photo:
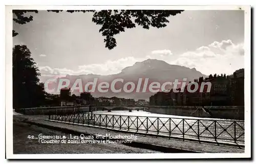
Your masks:
<svg viewBox="0 0 256 164"><path fill-rule="evenodd" d="M16 116L21 117L21 116ZM38 124L39 126L51 126L54 128L62 128L62 129L70 129L77 131L79 133L84 134L101 134L101 135L131 135L130 132L118 132L118 131L112 131L108 129L102 129L102 128L95 128L95 127L88 127L88 126L78 126L78 125L71 125L66 123L58 123L58 122L51 122L43 120L42 116L23 116L26 118L27 121L30 121L31 123ZM190 150L190 151L197 151L197 152L203 152L203 153L244 153L244 148L239 148L237 146L227 146L227 145L217 145L214 143L199 143L194 141L182 141L179 139L166 139L161 138L159 136L148 136L148 135L141 135L141 134L135 134L137 136L136 140L133 140L133 142L136 143L142 143L142 144L151 144L151 145L158 145L162 147L168 147L168 148L175 148L175 149L182 149L182 150Z"/></svg>

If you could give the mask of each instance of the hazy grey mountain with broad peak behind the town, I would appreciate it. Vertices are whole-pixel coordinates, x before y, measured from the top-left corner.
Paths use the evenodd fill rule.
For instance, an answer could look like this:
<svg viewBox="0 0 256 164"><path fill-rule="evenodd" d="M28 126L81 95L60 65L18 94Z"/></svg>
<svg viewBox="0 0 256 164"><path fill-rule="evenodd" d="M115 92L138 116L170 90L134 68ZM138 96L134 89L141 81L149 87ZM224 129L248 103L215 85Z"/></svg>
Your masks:
<svg viewBox="0 0 256 164"><path fill-rule="evenodd" d="M106 93L100 93L97 92L97 86L96 86L96 92L92 93L94 97L124 97L124 98L134 98L134 99L149 99L151 95L154 95L155 93L148 91L148 86L153 81L158 81L161 85L165 83L166 81L173 82L175 79L183 80L183 78L187 78L188 81L194 81L195 78L199 78L200 76L206 77L201 72L197 71L195 68L187 68L184 66L179 65L170 65L164 61L155 60L155 59L147 59L143 62L136 62L133 66L126 67L121 70L118 74L111 74L111 75L96 75L96 74L87 74L87 75L67 75L65 78L70 79L71 85L75 83L75 80L77 78L82 79L82 86L88 81L93 81L94 78L98 78L97 85L102 82L108 82L110 85L112 81L116 78L122 78L124 81L121 83L120 81L116 83L115 88L123 88L123 85L129 81L132 81L135 84L135 90L131 93L125 93L125 92L119 92L119 93L113 93L111 90L109 90ZM142 84L140 87L140 92L136 91L136 86L138 84L138 79L142 78ZM145 93L142 92L143 84L145 78L148 79L148 85L147 90ZM57 79L57 81L60 78ZM57 82L58 83L58 82ZM57 88L57 86L55 86ZM127 87L128 89L130 88ZM171 87L172 88L172 87ZM72 94L79 95L78 90L75 90Z"/></svg>

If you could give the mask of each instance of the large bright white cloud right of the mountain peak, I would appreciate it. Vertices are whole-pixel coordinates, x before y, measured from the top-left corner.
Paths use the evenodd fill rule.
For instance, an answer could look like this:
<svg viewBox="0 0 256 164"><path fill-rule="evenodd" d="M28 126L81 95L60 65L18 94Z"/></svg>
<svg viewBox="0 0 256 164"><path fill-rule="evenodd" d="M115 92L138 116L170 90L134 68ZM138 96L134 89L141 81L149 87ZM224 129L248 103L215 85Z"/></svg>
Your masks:
<svg viewBox="0 0 256 164"><path fill-rule="evenodd" d="M213 42L207 46L180 54L173 63L189 68L195 67L200 72L209 74L231 74L244 67L244 44L234 44L231 40ZM184 60L184 61L182 61Z"/></svg>

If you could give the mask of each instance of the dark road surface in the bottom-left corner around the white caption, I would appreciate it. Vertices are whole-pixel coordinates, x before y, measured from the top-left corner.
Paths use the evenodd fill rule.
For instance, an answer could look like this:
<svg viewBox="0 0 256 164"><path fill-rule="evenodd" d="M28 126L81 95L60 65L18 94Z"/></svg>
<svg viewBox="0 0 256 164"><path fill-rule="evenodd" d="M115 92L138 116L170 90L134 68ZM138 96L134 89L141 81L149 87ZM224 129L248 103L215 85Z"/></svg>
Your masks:
<svg viewBox="0 0 256 164"><path fill-rule="evenodd" d="M162 153L161 151L141 149L124 144L45 144L36 139L29 139L29 135L70 135L24 122L13 122L13 153L14 154L90 154L90 153Z"/></svg>

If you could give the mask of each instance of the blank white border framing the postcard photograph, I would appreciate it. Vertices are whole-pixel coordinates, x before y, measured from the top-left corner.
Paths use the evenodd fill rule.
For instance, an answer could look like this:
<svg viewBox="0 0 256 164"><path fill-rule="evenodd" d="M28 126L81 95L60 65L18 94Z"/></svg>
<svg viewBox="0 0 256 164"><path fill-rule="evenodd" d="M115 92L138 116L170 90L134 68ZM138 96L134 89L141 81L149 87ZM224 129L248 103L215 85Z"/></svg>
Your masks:
<svg viewBox="0 0 256 164"><path fill-rule="evenodd" d="M245 11L245 153L155 154L13 154L12 131L12 9L26 10L244 10ZM6 158L8 159L142 159L142 158L242 158L251 157L251 9L250 6L6 6Z"/></svg>

